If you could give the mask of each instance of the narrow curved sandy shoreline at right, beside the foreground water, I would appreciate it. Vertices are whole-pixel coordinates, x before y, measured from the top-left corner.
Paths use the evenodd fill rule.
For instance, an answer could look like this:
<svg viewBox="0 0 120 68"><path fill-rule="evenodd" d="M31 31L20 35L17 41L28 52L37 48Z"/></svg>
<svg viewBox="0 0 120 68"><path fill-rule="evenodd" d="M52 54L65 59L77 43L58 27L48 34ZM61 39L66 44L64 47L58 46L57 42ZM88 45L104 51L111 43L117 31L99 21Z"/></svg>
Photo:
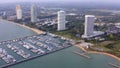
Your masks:
<svg viewBox="0 0 120 68"><path fill-rule="evenodd" d="M102 54L102 55L107 55L107 56L110 56L118 61L120 61L120 58L113 55L113 54L110 54L110 53L106 53L106 52L97 52L97 51L87 51L85 48L79 46L79 45L75 45L76 47L80 48L81 50L83 50L84 52L87 52L87 53L90 53L90 54Z"/></svg>

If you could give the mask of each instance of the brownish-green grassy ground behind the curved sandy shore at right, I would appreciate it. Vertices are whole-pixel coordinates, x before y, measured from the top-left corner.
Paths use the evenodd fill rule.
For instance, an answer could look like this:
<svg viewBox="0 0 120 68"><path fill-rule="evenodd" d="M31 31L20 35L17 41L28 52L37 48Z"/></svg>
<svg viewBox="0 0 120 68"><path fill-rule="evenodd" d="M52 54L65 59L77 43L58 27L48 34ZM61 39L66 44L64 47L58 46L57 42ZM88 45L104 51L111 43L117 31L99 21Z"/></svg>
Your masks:
<svg viewBox="0 0 120 68"><path fill-rule="evenodd" d="M120 57L120 40L113 41L112 39L112 41L104 41L93 46L90 50L107 52Z"/></svg>

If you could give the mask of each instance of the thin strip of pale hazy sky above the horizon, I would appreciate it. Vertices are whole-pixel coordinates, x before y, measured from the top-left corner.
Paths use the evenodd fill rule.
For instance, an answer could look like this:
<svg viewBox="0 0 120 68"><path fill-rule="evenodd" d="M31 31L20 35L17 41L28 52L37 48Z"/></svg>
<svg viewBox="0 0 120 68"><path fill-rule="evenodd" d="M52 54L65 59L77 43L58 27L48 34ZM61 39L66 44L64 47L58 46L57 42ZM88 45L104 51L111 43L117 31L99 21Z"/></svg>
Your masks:
<svg viewBox="0 0 120 68"><path fill-rule="evenodd" d="M0 0L0 3L9 2L106 2L106 3L120 3L120 0Z"/></svg>

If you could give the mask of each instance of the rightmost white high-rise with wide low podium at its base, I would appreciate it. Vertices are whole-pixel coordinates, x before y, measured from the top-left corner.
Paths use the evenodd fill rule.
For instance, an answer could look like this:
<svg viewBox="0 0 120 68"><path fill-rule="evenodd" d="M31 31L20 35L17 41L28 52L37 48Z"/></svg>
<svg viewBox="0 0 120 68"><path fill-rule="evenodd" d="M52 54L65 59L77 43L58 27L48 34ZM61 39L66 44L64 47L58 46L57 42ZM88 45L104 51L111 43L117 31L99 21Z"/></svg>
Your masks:
<svg viewBox="0 0 120 68"><path fill-rule="evenodd" d="M84 35L82 35L82 38L91 38L104 34L101 31L94 31L94 20L94 15L85 15Z"/></svg>

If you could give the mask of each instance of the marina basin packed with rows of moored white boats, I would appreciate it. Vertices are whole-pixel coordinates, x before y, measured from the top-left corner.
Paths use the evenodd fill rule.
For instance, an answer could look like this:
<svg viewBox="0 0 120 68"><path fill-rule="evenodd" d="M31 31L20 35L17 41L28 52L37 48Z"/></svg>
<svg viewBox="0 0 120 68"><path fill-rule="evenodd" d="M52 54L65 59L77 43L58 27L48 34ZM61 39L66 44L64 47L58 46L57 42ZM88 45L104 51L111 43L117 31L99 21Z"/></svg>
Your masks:
<svg viewBox="0 0 120 68"><path fill-rule="evenodd" d="M51 35L49 33L2 41L0 42L0 58L3 59L6 64L0 66L0 68L6 68L21 62L41 57L68 48L71 45L72 44L69 40L63 40L60 37ZM2 48L2 46L4 47ZM29 52L26 52L20 46ZM17 58L14 58L14 56L9 55L7 50L4 49L6 47L10 49L10 51L22 57L22 59L17 60ZM30 52L32 54L30 54Z"/></svg>

